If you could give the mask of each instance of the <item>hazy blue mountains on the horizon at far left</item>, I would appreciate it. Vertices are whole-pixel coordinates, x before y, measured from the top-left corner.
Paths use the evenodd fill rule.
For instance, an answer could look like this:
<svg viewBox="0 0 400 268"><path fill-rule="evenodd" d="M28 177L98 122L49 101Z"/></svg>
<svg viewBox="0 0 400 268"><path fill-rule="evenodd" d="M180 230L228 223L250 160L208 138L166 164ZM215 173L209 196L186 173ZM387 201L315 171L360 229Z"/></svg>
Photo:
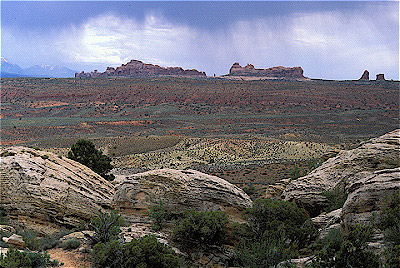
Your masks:
<svg viewBox="0 0 400 268"><path fill-rule="evenodd" d="M35 65L22 69L1 57L1 77L74 77L76 71L63 66Z"/></svg>

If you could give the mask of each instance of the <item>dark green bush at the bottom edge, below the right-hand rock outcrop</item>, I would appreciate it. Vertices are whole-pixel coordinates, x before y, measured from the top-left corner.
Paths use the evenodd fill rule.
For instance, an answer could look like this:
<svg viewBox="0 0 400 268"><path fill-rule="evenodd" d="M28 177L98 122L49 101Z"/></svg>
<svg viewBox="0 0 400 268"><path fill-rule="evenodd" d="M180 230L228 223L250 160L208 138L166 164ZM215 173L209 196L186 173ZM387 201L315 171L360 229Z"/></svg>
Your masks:
<svg viewBox="0 0 400 268"><path fill-rule="evenodd" d="M373 232L371 226L357 226L347 235L332 230L323 240L323 247L316 253L312 267L379 267L379 257L366 250Z"/></svg>

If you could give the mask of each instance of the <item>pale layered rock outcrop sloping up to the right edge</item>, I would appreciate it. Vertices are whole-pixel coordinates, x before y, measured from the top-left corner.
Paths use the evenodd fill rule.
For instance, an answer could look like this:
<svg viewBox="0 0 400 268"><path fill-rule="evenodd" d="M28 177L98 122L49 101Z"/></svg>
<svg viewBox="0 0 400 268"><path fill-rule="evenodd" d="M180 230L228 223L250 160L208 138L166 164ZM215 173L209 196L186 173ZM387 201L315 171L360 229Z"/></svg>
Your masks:
<svg viewBox="0 0 400 268"><path fill-rule="evenodd" d="M282 197L320 214L325 204L324 190L344 187L348 194L340 212L345 229L369 221L388 195L400 190L400 130L342 151L305 177L292 181Z"/></svg>

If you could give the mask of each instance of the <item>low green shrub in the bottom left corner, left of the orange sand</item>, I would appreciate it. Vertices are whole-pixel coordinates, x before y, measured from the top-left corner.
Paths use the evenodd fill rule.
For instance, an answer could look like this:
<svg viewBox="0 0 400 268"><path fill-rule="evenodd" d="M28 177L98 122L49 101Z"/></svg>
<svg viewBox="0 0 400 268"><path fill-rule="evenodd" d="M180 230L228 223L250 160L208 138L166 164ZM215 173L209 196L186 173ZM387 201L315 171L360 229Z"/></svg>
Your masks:
<svg viewBox="0 0 400 268"><path fill-rule="evenodd" d="M0 255L0 267L4 268L42 268L58 266L58 261L51 260L47 253L20 252L9 249L6 254Z"/></svg>

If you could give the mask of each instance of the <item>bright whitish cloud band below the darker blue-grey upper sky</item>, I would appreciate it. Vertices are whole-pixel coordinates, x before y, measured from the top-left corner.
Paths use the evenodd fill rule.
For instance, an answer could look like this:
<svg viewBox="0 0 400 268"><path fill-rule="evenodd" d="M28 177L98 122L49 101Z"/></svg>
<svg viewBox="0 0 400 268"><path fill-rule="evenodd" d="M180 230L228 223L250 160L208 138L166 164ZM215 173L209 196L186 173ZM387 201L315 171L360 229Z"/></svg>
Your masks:
<svg viewBox="0 0 400 268"><path fill-rule="evenodd" d="M48 36L3 29L3 39L31 61L52 58L99 70L139 59L212 75L227 73L239 61L260 68L302 66L313 78L357 79L368 69L398 79L398 11L391 7L249 18L213 31L178 25L160 14L142 21L104 14Z"/></svg>

